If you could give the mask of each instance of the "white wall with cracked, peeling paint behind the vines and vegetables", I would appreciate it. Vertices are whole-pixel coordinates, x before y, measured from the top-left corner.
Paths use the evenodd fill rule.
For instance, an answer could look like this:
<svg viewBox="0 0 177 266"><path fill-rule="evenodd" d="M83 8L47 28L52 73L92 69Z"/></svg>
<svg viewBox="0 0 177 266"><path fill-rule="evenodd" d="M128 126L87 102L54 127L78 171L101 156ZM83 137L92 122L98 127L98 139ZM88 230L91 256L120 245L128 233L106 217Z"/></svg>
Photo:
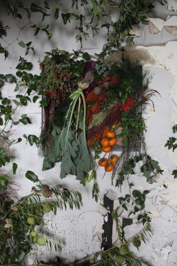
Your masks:
<svg viewBox="0 0 177 266"><path fill-rule="evenodd" d="M66 3L67 1L62 2ZM177 4L174 0L168 0L165 7L158 2L155 5L157 8L149 12L149 25L138 26L134 30L137 36L134 41L137 49L146 49L155 59L155 64L147 63L152 75L149 87L157 90L160 96L156 94L152 98L155 112L150 103L143 117L147 125L147 133L145 134L147 153L153 159L159 161L159 165L164 172L163 175L158 176L157 183L152 185L147 184L146 179L139 175L131 177L131 182L133 182L135 189L140 191L150 190L150 193L147 194L145 209L150 212L149 215L152 217L151 225L154 234L147 245L141 244L139 252L135 247L132 247L132 251L137 257L142 257L153 266L173 266L177 264L177 180L173 178L171 173L177 166L177 149L172 153L172 150L164 148L164 145L169 137L176 137L172 134L172 127L177 124ZM66 10L67 8L66 4ZM7 42L10 44L17 38L19 28L11 17L4 17L5 12L2 9L0 12L3 25L9 25L7 37L1 40L1 45L5 47ZM114 19L115 13L111 12L111 17ZM50 17L47 20L49 20L50 24ZM22 21L19 21L19 23L19 25L24 25ZM24 56L25 49L21 48L16 40L13 45L9 45L7 48L9 57L5 61L4 55L0 54L1 73L15 74L15 67L21 55L28 62L33 63L32 74L40 74L38 60L39 58L41 60L44 58L44 52L56 47L69 52L73 49L79 49L79 43L75 42L75 34L77 34L77 31L74 30L75 23L77 22L72 20L71 24L64 26L62 19L58 19L57 23L52 27L54 35L51 40L47 40L44 32L39 32L37 36L33 36L33 28L25 27L20 32L18 40L23 40L24 42L32 41L36 51L35 56L33 56L31 51L27 56ZM101 52L106 38L106 32L102 29L101 34L98 36L94 38L90 36L87 41L83 40L83 50L89 54ZM15 96L14 89L14 86L7 84L1 90L2 96L13 100ZM22 93L23 88L19 91L19 94ZM31 119L32 125L18 125L18 129L14 127L9 134L10 140L21 137L23 134L40 136L41 109L38 104L29 103L27 107L20 107L16 112L17 120L24 113ZM129 190L126 181L120 193L118 188L111 186L111 174L106 174L102 179L104 171L98 168L97 180L100 198L98 203L96 203L92 199L93 183L90 182L83 187L79 181L75 180L74 176L67 176L61 180L59 178L59 163L53 169L42 172L43 160L37 156L37 148L35 146L30 147L29 144L26 145L25 139L12 145L11 153L18 165L17 174L11 174L11 176L13 182L19 186L18 194L20 196L29 194L31 191L33 184L25 178L25 172L31 170L37 174L39 179L45 180L49 186L59 185L69 190L78 190L82 193L83 198L81 210L59 210L57 216L46 216L46 227L43 229L43 233L61 243L61 254L34 246L30 256L26 258L26 263L32 263L34 258L36 258L36 254L39 260L52 260L57 255L65 260L66 263L69 263L99 251L102 247L102 233L104 232L102 225L104 220L107 219L107 213L109 213L109 209L104 207L104 195L107 193L106 196L114 201L114 208L116 208L118 206L118 197L125 195ZM117 154L119 155L120 153L117 152ZM95 161L96 164L97 160ZM127 212L122 210L120 219L124 218L127 218ZM141 225L137 223L135 217L133 223L126 226L124 230L127 232L127 236L131 236L132 233L134 234L141 230ZM116 240L114 224L113 240Z"/></svg>

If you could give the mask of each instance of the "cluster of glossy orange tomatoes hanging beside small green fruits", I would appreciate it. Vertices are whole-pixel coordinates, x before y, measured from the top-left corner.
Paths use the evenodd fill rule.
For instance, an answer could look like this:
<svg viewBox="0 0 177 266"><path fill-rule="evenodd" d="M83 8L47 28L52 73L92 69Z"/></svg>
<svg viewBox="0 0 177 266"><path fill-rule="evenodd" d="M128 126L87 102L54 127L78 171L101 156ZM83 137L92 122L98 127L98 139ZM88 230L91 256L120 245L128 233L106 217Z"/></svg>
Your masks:
<svg viewBox="0 0 177 266"><path fill-rule="evenodd" d="M100 151L103 151L105 153L110 153L111 147L114 146L117 143L117 139L115 138L115 132L109 130L106 133L106 136L101 139L101 144L100 144ZM97 145L98 146L98 145ZM100 154L100 153L98 153ZM94 159L98 159L98 157L94 157ZM118 161L117 155L111 155L109 159L106 158L101 158L98 161L99 166L104 166L106 172L110 172L114 168L114 163Z"/></svg>

